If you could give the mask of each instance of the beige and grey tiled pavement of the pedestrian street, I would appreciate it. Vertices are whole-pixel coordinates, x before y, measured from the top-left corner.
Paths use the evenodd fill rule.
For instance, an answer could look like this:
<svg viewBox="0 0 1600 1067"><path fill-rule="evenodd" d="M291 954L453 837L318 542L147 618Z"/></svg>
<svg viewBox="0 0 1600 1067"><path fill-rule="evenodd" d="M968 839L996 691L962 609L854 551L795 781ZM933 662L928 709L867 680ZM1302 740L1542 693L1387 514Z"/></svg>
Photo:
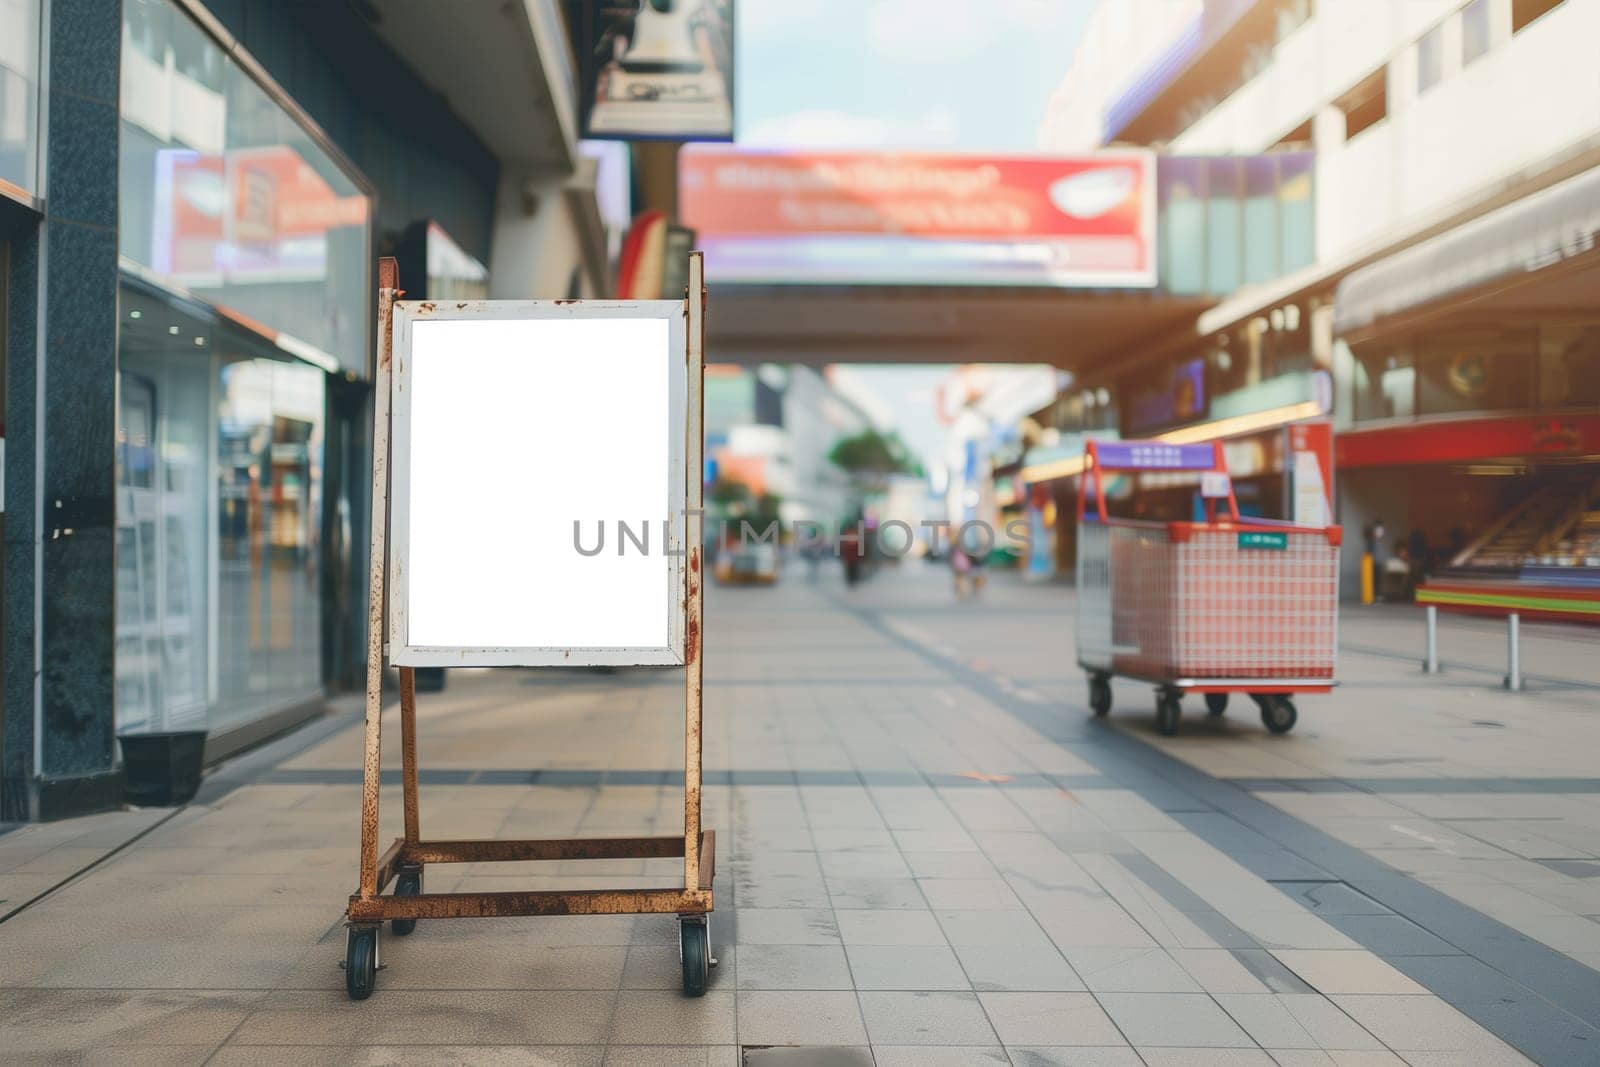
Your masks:
<svg viewBox="0 0 1600 1067"><path fill-rule="evenodd" d="M1525 1062L1502 1038L1576 1062L1600 1048L1600 957L1582 949L1600 931L1584 867L1600 873L1594 691L1424 680L1387 653L1405 621L1379 613L1347 617L1346 635L1384 654L1346 654L1346 688L1304 701L1294 734L1189 709L1160 739L1141 686L1118 683L1112 728L1088 718L1070 605L1010 581L957 605L922 565L854 590L800 573L710 590L720 966L701 1000L677 990L670 917L594 917L419 923L386 936L373 998L347 1001L347 713L176 814L0 837L0 913L96 864L0 923L0 1048L117 1064L738 1064L742 1048L754 1067L802 1062L765 1059L786 1045L880 1065ZM1530 672L1541 657L1541 675L1584 677L1589 657L1528 630ZM1475 640L1490 637L1462 648ZM680 697L672 672L453 672L419 704L424 835L675 832ZM386 718L386 766L397 745ZM1506 773L1549 789L1506 792ZM394 835L398 790L384 798ZM1566 857L1526 846L1534 824ZM427 880L675 873L477 864Z"/></svg>

